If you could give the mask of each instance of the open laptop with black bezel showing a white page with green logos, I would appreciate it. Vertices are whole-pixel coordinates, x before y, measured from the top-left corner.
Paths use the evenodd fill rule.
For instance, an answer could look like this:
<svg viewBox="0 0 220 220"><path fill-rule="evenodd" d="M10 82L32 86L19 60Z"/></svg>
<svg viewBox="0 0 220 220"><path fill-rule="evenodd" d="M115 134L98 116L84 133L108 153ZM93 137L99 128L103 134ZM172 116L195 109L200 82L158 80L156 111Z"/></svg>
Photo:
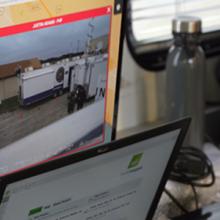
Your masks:
<svg viewBox="0 0 220 220"><path fill-rule="evenodd" d="M2 177L0 220L152 219L189 121Z"/></svg>

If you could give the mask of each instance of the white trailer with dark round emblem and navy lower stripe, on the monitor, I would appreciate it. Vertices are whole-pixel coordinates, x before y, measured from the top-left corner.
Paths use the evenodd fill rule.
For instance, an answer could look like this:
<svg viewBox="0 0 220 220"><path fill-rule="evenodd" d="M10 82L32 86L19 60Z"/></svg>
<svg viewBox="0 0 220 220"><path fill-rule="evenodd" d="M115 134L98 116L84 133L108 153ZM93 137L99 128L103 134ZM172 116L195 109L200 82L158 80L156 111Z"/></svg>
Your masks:
<svg viewBox="0 0 220 220"><path fill-rule="evenodd" d="M45 64L19 74L19 100L28 106L50 96L61 95L69 87L69 63Z"/></svg>

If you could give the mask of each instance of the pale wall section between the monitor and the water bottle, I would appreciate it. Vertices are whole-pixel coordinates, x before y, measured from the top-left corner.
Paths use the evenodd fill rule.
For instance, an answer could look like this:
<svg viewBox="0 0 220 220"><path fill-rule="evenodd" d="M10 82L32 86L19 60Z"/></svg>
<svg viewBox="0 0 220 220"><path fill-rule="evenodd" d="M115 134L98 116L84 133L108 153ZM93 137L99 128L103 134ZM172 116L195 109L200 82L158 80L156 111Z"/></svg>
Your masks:
<svg viewBox="0 0 220 220"><path fill-rule="evenodd" d="M124 44L118 131L164 118L164 72L154 73L139 67Z"/></svg>

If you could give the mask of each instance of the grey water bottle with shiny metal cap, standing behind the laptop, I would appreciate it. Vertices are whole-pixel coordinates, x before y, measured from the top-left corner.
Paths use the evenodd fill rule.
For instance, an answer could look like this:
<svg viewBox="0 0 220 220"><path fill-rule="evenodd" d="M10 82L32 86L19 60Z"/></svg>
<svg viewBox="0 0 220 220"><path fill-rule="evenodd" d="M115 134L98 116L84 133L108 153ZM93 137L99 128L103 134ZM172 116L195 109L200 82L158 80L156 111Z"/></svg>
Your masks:
<svg viewBox="0 0 220 220"><path fill-rule="evenodd" d="M201 148L205 102L205 55L199 43L202 22L196 17L177 17L172 28L174 40L166 64L168 119L192 117L184 144Z"/></svg>

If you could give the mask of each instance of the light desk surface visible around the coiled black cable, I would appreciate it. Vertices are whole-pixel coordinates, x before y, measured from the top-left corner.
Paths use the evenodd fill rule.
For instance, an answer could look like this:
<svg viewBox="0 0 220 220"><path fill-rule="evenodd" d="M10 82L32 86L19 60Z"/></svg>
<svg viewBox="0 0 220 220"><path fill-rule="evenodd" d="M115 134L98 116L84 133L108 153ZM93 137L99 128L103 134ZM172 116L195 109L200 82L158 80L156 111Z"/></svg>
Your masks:
<svg viewBox="0 0 220 220"><path fill-rule="evenodd" d="M199 207L220 202L220 151L211 144L206 144L204 151L213 162L216 182L215 185L209 188L196 188ZM195 200L190 186L169 181L166 187L187 210L195 210ZM168 220L169 218L167 216L174 217L182 214L167 195L163 193L154 220Z"/></svg>

